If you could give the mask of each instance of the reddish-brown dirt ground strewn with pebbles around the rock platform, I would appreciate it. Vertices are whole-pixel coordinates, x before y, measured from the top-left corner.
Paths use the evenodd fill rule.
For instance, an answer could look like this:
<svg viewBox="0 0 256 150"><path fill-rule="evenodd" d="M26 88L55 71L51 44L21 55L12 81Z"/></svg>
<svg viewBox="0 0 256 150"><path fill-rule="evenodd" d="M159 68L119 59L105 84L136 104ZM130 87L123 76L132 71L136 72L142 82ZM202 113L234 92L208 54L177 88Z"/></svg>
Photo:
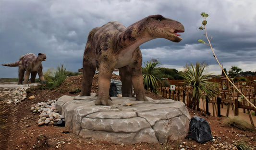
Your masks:
<svg viewBox="0 0 256 150"><path fill-rule="evenodd" d="M120 76L113 75L113 79L120 80ZM0 104L0 149L1 150L165 150L165 143L150 144L113 144L106 141L94 141L75 135L65 127L37 126L38 113L30 111L30 107L38 102L46 102L48 99L58 99L62 95L77 96L77 89L81 89L82 75L71 76L66 79L56 90L41 90L34 87L28 92L28 96L35 96L34 99L25 99L18 104ZM98 76L93 80L92 92L98 92ZM153 99L163 99L146 92L146 96ZM218 138L219 143L234 143L245 139L247 144L256 147L256 131L243 131L223 125L224 117L213 117L202 112L188 109L191 117L198 116L205 118L210 124L212 135ZM214 141L203 144L191 139L180 139L174 141L169 149L178 149L181 143L184 150L209 150L214 149ZM235 147L235 146L234 146ZM218 149L216 149L218 150Z"/></svg>

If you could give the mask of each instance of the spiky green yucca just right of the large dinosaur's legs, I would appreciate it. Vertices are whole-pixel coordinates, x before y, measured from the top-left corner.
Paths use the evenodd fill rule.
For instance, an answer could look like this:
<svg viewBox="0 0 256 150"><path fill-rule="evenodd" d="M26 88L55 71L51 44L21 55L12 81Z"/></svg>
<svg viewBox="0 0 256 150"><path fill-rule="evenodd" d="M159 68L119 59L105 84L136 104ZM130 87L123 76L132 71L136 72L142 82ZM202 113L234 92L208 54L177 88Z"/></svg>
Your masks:
<svg viewBox="0 0 256 150"><path fill-rule="evenodd" d="M158 71L159 62L146 62L145 67L142 67L143 72L143 84L144 88L148 91L151 91L157 94L157 88L159 87L159 79L154 75Z"/></svg>

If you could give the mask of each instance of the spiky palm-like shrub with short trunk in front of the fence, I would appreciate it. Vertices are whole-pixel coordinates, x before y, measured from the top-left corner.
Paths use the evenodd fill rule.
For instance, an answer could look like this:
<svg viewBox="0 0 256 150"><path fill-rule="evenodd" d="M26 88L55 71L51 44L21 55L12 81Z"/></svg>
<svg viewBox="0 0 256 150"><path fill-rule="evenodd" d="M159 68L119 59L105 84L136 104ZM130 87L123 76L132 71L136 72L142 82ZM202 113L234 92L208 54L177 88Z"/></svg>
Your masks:
<svg viewBox="0 0 256 150"><path fill-rule="evenodd" d="M197 107L199 109L200 98L205 99L204 94L213 97L216 94L216 86L213 82L207 81L210 79L208 77L211 74L204 74L204 69L207 64L196 63L195 66L191 63L187 69L181 74L184 78L184 83L186 86L191 86L193 88L192 92L192 102L188 103L188 107Z"/></svg>

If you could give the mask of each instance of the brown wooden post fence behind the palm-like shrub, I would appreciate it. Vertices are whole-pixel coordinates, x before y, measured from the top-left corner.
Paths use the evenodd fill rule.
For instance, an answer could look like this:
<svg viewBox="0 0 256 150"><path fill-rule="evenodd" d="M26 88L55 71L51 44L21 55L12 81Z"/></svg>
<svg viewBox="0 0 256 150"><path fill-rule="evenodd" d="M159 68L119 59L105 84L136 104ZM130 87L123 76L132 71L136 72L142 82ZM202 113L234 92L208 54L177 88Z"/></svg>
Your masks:
<svg viewBox="0 0 256 150"><path fill-rule="evenodd" d="M254 106L256 106L256 84L254 86L241 86L238 83L237 87L244 94L244 96L246 96L246 98L252 102ZM171 90L170 87L161 87L160 89L162 97L183 101L183 103L185 103L188 107L193 107L193 105L195 105L192 99L192 90L193 89L191 87L179 85L175 85L175 90ZM220 88L218 95L216 95L214 98L209 98L206 96L205 99L205 102L202 101L204 109L200 110L206 114L210 114L209 103L212 103L213 116L215 116L216 113L216 116L218 117L221 117L220 107L223 107L223 105L227 106L227 117L229 116L230 107L233 110L234 116L237 116L239 114L238 109L242 108L244 109L244 113L247 110L251 124L254 126L251 112L254 111L256 114L256 108L248 104L247 101L245 101L245 99L240 96L240 94L232 86L229 88L229 90L222 90ZM196 107L199 108L199 106Z"/></svg>

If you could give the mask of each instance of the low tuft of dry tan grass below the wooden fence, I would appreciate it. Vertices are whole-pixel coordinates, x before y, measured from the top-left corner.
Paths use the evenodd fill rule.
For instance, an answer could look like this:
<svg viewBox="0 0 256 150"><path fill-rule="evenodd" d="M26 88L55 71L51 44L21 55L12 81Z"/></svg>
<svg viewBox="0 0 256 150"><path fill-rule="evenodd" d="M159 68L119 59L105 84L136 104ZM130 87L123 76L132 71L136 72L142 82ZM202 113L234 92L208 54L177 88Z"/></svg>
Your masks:
<svg viewBox="0 0 256 150"><path fill-rule="evenodd" d="M248 122L240 119L238 116L224 119L224 125L245 130L245 131L255 131L255 127Z"/></svg>

